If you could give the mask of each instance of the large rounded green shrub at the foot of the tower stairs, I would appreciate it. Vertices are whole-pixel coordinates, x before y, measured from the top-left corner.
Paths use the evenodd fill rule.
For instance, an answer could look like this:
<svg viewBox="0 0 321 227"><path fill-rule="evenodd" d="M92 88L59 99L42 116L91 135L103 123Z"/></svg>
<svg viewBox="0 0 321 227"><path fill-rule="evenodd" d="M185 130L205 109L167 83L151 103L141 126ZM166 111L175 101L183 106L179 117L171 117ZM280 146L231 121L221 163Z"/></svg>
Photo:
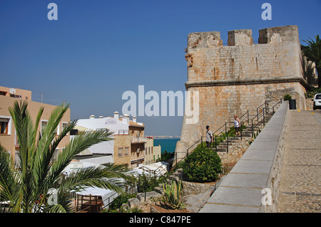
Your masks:
<svg viewBox="0 0 321 227"><path fill-rule="evenodd" d="M185 158L183 172L188 181L213 182L222 172L220 157L212 149L198 147Z"/></svg>

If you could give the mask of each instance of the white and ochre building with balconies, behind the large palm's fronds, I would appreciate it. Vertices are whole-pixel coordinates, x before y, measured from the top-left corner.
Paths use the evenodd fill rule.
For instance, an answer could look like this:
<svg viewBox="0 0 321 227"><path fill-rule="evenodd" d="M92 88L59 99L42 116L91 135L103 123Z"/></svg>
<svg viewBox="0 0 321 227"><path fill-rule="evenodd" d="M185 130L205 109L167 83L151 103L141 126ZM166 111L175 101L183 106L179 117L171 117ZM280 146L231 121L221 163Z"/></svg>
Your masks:
<svg viewBox="0 0 321 227"><path fill-rule="evenodd" d="M118 112L113 117L95 117L80 119L76 130L106 130L113 132L113 140L101 142L81 153L78 159L86 159L86 162L96 164L128 164L129 167L138 167L144 164L144 150L146 138L144 137L145 126L136 122L136 117L129 120L128 115L119 116ZM90 159L90 160L88 160Z"/></svg>

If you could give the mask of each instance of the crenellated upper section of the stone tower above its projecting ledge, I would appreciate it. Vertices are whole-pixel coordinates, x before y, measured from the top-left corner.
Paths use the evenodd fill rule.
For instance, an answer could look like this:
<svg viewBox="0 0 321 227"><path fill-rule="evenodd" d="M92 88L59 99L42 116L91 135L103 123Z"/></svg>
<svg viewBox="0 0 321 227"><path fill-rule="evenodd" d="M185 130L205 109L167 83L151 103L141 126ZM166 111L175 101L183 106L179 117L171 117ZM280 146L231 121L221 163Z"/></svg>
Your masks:
<svg viewBox="0 0 321 227"><path fill-rule="evenodd" d="M264 28L259 33L258 43L253 44L252 30L228 31L228 46L223 46L218 31L190 33L185 55L186 87L199 85L200 81L209 84L208 81L215 80L213 83L218 85L227 80L275 83L288 77L302 78L297 26Z"/></svg>

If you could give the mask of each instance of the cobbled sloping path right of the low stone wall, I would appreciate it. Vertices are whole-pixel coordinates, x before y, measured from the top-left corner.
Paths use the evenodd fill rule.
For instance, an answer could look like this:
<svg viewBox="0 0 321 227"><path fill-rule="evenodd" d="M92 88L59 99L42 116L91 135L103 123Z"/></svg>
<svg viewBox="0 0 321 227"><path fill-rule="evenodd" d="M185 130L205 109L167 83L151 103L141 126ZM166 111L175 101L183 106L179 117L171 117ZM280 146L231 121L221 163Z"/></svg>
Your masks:
<svg viewBox="0 0 321 227"><path fill-rule="evenodd" d="M290 110L278 211L321 213L321 110Z"/></svg>

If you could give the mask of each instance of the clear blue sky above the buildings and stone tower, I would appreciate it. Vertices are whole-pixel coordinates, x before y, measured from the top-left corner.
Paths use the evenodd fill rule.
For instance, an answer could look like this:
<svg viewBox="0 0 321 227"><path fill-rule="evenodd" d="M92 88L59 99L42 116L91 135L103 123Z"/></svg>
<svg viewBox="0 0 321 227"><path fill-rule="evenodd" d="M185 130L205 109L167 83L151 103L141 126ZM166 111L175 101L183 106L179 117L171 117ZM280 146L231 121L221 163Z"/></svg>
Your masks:
<svg viewBox="0 0 321 227"><path fill-rule="evenodd" d="M58 21L49 21L49 3ZM263 3L272 20L263 21ZM126 90L185 91L188 33L297 25L300 40L321 33L321 0L0 0L0 85L34 101L71 104L71 119L121 112ZM304 44L302 42L302 44ZM148 101L146 101L148 102ZM146 134L180 135L183 117L138 117Z"/></svg>

